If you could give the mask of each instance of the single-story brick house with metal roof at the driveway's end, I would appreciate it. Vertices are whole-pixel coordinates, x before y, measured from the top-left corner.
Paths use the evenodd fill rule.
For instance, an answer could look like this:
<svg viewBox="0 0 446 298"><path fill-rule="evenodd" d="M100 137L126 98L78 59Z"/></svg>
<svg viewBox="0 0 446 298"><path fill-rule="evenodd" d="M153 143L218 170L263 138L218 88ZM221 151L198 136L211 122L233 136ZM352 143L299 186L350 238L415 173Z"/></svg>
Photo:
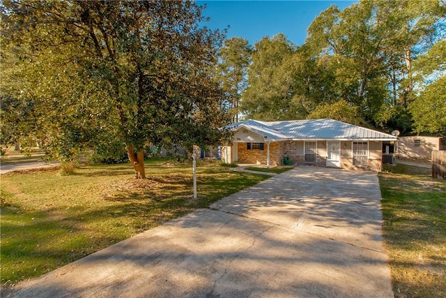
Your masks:
<svg viewBox="0 0 446 298"><path fill-rule="evenodd" d="M317 165L380 171L383 146L397 137L332 119L246 120L227 126L233 140L222 147L226 163Z"/></svg>

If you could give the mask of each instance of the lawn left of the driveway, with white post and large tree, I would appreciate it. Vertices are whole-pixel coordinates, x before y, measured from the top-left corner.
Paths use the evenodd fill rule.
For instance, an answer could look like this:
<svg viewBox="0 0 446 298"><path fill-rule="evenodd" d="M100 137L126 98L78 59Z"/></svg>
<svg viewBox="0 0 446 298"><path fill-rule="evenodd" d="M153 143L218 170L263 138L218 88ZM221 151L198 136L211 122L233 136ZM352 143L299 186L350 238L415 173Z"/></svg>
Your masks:
<svg viewBox="0 0 446 298"><path fill-rule="evenodd" d="M45 274L266 179L220 164L146 163L134 180L128 164L1 175L1 286Z"/></svg>

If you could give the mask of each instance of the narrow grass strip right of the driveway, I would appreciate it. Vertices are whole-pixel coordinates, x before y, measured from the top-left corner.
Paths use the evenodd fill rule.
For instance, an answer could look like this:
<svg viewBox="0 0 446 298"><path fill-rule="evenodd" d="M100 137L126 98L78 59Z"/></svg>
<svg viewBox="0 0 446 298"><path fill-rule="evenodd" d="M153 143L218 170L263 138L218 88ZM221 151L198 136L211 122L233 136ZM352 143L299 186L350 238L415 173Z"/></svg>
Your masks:
<svg viewBox="0 0 446 298"><path fill-rule="evenodd" d="M446 181L401 164L386 165L379 180L395 297L444 297Z"/></svg>

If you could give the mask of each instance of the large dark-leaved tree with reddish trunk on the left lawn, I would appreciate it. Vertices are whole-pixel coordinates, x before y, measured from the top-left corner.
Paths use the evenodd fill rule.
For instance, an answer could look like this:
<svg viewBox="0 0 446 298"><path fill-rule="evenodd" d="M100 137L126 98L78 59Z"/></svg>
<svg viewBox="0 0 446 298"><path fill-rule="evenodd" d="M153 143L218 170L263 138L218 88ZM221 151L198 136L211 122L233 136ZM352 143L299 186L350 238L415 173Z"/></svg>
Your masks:
<svg viewBox="0 0 446 298"><path fill-rule="evenodd" d="M223 36L199 27L195 3L4 1L2 10L3 50L26 81L11 97L33 99L36 129L59 158L118 137L144 178L144 144L192 149L222 137Z"/></svg>

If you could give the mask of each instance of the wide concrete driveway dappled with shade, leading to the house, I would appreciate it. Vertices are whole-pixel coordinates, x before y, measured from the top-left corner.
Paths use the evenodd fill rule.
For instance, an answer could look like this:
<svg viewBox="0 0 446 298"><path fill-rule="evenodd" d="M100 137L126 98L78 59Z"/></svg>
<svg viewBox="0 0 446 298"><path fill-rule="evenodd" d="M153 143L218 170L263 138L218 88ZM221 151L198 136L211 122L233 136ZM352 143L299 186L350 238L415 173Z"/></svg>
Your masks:
<svg viewBox="0 0 446 298"><path fill-rule="evenodd" d="M296 167L3 295L393 297L378 178Z"/></svg>

